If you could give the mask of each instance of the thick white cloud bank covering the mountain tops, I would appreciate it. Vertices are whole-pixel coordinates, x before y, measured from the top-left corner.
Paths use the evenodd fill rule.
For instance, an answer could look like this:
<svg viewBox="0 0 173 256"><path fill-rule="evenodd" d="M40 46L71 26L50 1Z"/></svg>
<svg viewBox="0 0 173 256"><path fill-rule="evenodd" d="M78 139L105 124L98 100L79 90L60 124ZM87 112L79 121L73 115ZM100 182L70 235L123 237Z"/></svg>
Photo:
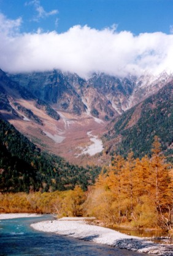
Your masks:
<svg viewBox="0 0 173 256"><path fill-rule="evenodd" d="M146 70L170 71L173 67L173 35L157 32L134 36L129 31L117 33L115 26L96 30L79 25L60 34L40 29L15 34L20 24L21 19L10 21L0 15L0 68L7 72L59 68L81 76L92 72L124 76Z"/></svg>

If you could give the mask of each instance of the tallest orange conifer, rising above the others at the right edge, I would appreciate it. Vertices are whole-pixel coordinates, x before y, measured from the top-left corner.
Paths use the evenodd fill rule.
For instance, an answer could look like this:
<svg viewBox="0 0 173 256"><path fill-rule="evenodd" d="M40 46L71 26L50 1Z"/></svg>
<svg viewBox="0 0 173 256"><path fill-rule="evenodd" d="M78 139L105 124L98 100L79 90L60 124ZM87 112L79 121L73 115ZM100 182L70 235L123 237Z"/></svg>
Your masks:
<svg viewBox="0 0 173 256"><path fill-rule="evenodd" d="M172 226L172 182L169 175L170 165L166 163L165 157L161 154L160 139L155 136L152 149L152 159L150 160L150 176L148 177L149 193L155 203L158 212L158 221L162 222L164 228L170 229ZM169 218L167 211L171 212Z"/></svg>

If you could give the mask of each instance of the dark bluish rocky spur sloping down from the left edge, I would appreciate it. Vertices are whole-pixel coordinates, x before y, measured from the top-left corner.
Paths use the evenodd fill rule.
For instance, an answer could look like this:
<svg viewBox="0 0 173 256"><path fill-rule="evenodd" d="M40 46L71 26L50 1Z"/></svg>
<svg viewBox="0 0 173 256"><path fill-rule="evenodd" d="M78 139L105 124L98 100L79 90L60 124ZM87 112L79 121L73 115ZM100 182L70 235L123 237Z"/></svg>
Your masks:
<svg viewBox="0 0 173 256"><path fill-rule="evenodd" d="M23 102L21 105L18 101ZM27 101L37 109L55 120L60 119L60 115L50 107L45 101L39 100L31 91L21 86L17 81L11 80L2 70L0 70L0 110L7 110L11 118L28 118L36 123L42 124L42 121L35 115L31 109L27 109Z"/></svg>

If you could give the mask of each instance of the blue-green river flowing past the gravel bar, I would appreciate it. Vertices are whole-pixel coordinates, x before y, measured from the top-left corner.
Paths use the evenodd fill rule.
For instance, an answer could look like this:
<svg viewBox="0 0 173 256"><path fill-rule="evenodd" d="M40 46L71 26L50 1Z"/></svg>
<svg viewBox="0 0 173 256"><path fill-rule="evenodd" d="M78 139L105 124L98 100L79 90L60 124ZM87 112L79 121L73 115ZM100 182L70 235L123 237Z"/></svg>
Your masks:
<svg viewBox="0 0 173 256"><path fill-rule="evenodd" d="M43 233L31 223L53 220L53 216L15 218L0 221L0 256L142 256L137 252L81 241L53 233ZM148 254L147 254L148 255Z"/></svg>

